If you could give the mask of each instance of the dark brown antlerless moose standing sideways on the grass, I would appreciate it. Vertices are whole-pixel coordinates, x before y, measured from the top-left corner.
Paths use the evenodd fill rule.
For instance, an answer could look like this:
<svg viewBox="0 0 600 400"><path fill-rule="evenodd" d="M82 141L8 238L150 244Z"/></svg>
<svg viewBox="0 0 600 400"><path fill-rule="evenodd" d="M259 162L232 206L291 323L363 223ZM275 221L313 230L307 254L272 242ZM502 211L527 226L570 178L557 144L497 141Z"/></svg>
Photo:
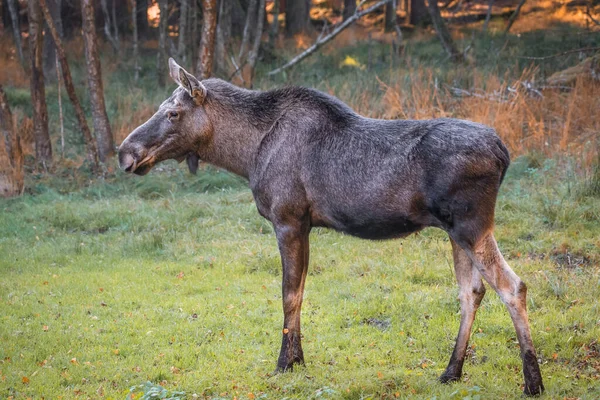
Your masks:
<svg viewBox="0 0 600 400"><path fill-rule="evenodd" d="M379 120L303 87L254 91L198 80L169 59L179 85L119 147L126 172L198 160L248 180L273 224L283 267L283 335L277 372L304 363L300 309L312 227L371 240L425 227L448 233L459 285L460 328L443 383L457 381L485 280L512 318L524 393L544 390L526 310L527 287L494 238L494 209L509 154L495 131L458 119Z"/></svg>

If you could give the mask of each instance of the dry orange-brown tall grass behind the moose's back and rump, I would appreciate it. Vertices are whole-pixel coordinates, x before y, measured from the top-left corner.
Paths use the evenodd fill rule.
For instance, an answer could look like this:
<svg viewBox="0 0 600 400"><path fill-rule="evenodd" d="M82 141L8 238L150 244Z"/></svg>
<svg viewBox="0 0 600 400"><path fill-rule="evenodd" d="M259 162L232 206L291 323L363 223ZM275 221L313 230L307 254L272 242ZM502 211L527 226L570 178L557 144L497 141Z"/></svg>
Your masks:
<svg viewBox="0 0 600 400"><path fill-rule="evenodd" d="M431 70L410 71L411 85L386 84L385 118L464 118L493 126L514 155L577 155L590 167L598 155L600 84L579 78L568 90L530 88L535 70L507 83L474 72L473 87L457 90L435 81Z"/></svg>

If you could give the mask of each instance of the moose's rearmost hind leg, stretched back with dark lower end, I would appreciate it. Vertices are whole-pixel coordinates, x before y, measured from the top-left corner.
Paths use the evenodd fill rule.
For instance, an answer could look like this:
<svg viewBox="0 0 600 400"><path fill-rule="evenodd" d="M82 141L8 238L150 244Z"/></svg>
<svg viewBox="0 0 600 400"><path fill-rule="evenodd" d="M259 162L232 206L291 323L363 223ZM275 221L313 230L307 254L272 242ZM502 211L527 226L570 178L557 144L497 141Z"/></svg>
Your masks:
<svg viewBox="0 0 600 400"><path fill-rule="evenodd" d="M508 308L521 348L525 377L523 392L529 396L540 394L544 391L544 384L527 318L527 286L506 263L491 232L479 239L467 253Z"/></svg>

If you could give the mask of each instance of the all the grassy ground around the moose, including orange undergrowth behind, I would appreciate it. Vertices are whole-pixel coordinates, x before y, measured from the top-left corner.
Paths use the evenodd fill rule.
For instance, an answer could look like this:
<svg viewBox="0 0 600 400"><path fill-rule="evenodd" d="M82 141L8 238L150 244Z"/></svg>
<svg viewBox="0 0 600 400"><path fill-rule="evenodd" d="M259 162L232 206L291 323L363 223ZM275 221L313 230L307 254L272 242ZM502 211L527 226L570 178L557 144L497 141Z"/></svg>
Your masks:
<svg viewBox="0 0 600 400"><path fill-rule="evenodd" d="M501 27L492 21L492 32ZM494 126L513 154L496 238L529 286L543 398L598 399L600 172L591 171L600 85L579 80L572 90L532 96L527 84L580 55L523 57L598 46L600 33L570 25L507 37L469 29L455 32L461 48L472 48L468 65L450 64L431 34L407 35L400 58L389 44L342 36L287 74L266 77L297 51L288 43L280 58L260 64L256 87L316 87L370 117L450 116ZM69 46L88 107L83 57L75 56L82 44ZM31 121L21 119L31 114L28 82L1 53L0 79L11 82L5 89L31 152ZM104 54L108 113L120 141L174 85L156 87L155 49L143 49L138 84L130 60ZM452 88L480 96L458 97ZM106 178L91 178L68 104L59 161L56 94L49 84L52 173L36 172L29 157L26 194L0 200L0 399L140 399L159 385L187 399L521 395L515 332L491 290L463 380L437 382L460 313L450 243L433 229L383 242L313 230L307 365L273 375L283 320L280 260L245 182L210 167L193 177L173 163L145 177L114 172L113 164Z"/></svg>

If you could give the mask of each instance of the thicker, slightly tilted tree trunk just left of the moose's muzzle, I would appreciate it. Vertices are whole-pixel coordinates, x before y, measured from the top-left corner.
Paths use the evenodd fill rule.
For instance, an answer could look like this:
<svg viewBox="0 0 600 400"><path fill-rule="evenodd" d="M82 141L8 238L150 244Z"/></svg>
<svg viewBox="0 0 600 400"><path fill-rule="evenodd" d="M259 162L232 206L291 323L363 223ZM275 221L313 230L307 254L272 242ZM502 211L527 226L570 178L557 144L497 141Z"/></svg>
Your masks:
<svg viewBox="0 0 600 400"><path fill-rule="evenodd" d="M90 103L92 104L92 117L94 120L94 135L98 143L100 161L106 163L115 154L115 143L104 104L102 68L100 66L100 58L98 57L93 0L81 0L81 13L83 16L83 41L85 43L85 61L87 64L88 88L90 90Z"/></svg>

